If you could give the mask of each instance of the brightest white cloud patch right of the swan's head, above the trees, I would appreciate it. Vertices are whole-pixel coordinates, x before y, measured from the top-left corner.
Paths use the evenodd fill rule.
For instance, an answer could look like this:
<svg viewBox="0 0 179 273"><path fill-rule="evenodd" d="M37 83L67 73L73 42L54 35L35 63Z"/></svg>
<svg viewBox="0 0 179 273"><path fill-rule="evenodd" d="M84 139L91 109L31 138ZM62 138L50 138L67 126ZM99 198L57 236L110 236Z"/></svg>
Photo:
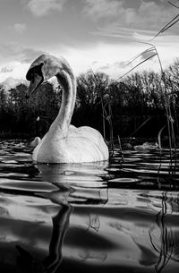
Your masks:
<svg viewBox="0 0 179 273"><path fill-rule="evenodd" d="M61 54L68 60L76 75L86 73L92 69L94 72L107 73L111 78L115 79L126 73L129 68L125 64L146 48L147 46L141 44L136 46L136 44L130 43L126 45L100 42L98 45L90 45L89 47L65 47L64 52L61 51ZM59 56L59 50L51 50L50 54ZM156 68L158 70L158 62L155 65L154 62L155 60L152 60L141 66L141 69Z"/></svg>

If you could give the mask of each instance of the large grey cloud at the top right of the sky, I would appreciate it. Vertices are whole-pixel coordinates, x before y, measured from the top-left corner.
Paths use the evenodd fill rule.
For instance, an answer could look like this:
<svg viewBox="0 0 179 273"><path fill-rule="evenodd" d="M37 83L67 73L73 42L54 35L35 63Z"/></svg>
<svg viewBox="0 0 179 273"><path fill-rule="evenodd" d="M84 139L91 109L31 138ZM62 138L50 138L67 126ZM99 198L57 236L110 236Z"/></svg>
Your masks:
<svg viewBox="0 0 179 273"><path fill-rule="evenodd" d="M102 22L106 26L138 30L160 30L177 14L177 9L166 5L166 1L117 1L117 0L83 0L83 13L91 21Z"/></svg>

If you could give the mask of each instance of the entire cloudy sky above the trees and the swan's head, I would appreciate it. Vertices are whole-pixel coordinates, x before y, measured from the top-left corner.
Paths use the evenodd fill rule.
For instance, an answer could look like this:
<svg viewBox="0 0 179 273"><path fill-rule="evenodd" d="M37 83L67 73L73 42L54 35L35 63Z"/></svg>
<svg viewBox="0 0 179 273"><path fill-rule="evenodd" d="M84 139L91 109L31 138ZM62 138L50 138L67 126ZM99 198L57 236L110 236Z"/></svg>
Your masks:
<svg viewBox="0 0 179 273"><path fill-rule="evenodd" d="M152 43L166 68L179 57L179 22L151 41L178 13L179 0L0 0L0 82L25 79L43 53L61 56L75 75L118 79ZM146 55L141 55L144 59ZM140 69L159 70L153 57Z"/></svg>

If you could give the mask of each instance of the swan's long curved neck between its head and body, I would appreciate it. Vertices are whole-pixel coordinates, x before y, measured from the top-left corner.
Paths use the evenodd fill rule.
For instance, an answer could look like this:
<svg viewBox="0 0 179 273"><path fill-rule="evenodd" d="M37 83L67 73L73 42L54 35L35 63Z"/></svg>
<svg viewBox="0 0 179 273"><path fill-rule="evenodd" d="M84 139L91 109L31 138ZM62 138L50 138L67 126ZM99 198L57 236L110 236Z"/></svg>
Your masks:
<svg viewBox="0 0 179 273"><path fill-rule="evenodd" d="M71 123L72 113L76 99L76 81L72 73L57 73L56 78L60 83L63 94L58 115L50 130L60 132L63 137L67 135L68 127Z"/></svg>

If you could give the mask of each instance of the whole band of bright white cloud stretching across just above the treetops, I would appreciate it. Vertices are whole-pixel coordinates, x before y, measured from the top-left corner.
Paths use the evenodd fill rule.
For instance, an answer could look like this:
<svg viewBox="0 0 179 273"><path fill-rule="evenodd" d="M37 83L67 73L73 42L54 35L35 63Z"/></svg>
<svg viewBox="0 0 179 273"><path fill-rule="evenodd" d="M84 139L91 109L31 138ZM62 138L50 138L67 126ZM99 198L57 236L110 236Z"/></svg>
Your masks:
<svg viewBox="0 0 179 273"><path fill-rule="evenodd" d="M172 38L173 43L170 43L167 37L159 37L156 41L156 47L158 48L158 54L164 69L168 64L172 64L176 57L179 57L179 55L176 55L175 49L178 47L179 38L177 36ZM59 48L61 49L59 50ZM125 44L119 41L119 43L115 44L99 42L98 44L90 44L86 47L62 47L61 45L56 45L54 48L49 47L47 52L57 57L63 55L72 66L75 75L86 73L92 69L94 72L101 71L107 73L112 79L118 79L132 68L132 66L126 64L128 64L135 55L141 54L141 52L147 48L149 48L147 45L141 43ZM33 59L30 58L31 53L34 55ZM19 54L21 55L21 51ZM12 72L4 73L4 65L2 68L0 67L0 81L3 81L9 76L25 79L30 63L38 56L38 52L31 51L31 48L23 48L21 56L21 62L16 63L11 63L10 60L13 57L9 58L9 63L6 64L6 66L14 67ZM149 57L149 55L141 56L141 61L146 57ZM24 60L29 60L29 62L24 62ZM158 58L151 58L136 70L159 71Z"/></svg>

